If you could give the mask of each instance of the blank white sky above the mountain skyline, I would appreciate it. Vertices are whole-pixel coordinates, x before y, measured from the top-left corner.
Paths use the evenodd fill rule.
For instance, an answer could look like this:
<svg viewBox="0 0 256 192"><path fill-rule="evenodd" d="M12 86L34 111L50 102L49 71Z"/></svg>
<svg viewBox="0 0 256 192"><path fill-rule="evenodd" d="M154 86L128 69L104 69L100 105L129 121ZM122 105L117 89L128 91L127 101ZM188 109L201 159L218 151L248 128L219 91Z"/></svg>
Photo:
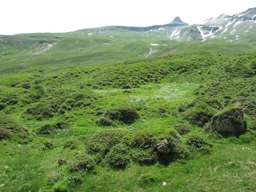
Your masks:
<svg viewBox="0 0 256 192"><path fill-rule="evenodd" d="M256 0L0 0L0 34L151 26L170 23L176 16L200 23L251 7Z"/></svg>

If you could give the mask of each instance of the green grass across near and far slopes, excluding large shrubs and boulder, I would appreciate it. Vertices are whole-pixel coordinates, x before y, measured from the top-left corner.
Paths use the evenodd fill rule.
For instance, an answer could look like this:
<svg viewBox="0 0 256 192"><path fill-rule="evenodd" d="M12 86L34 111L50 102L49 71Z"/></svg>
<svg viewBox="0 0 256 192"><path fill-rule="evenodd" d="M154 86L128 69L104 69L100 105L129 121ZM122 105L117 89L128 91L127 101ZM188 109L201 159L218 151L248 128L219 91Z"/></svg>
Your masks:
<svg viewBox="0 0 256 192"><path fill-rule="evenodd" d="M256 55L244 53L254 50L253 45L168 42L157 47L157 57L145 58L152 39L141 35L131 42L129 38L134 36L122 32L4 37L12 43L26 41L12 46L8 40L1 47L1 53L7 53L0 57L1 112L29 128L33 141L26 145L11 139L0 141L0 191L53 191L57 184L68 191L255 191L256 77L252 64ZM58 44L40 55L24 52L40 45L41 38ZM160 32L154 38L158 43L168 41ZM189 53L195 47L211 52ZM167 55L170 52L177 54ZM26 90L24 84L31 88ZM11 99L18 103L10 104ZM196 114L202 105L209 112L218 112L239 102L248 124L241 137L208 134L189 119L189 112ZM113 120L113 126L99 125L99 118L108 110L121 107L135 109L140 118L132 124ZM29 108L39 114L29 113ZM41 126L59 120L68 122L69 128L36 134ZM130 160L126 169L114 170L97 164L93 172L83 173L82 183L68 185L73 175L69 164L86 153L92 135L121 129L127 131L127 137L147 133L159 139L170 136L178 124L190 128L181 136L182 147L187 148L189 136L199 134L213 144L211 153L198 151L188 158L173 159L167 166L159 161L140 166ZM64 148L70 138L78 140L74 150ZM45 149L48 141L53 141L53 147ZM59 159L67 164L59 166ZM61 177L51 185L48 177L53 172L60 172ZM151 180L143 183L142 175ZM162 186L164 181L166 186Z"/></svg>

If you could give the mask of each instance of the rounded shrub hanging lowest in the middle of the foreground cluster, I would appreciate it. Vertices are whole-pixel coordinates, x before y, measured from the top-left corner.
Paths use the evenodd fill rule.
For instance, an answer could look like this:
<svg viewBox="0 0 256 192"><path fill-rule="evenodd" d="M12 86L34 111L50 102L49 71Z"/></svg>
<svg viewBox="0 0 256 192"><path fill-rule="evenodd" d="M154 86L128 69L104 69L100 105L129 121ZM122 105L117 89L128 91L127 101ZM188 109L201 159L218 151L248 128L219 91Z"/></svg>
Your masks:
<svg viewBox="0 0 256 192"><path fill-rule="evenodd" d="M105 157L113 169L124 169L129 163L129 150L124 144L115 145Z"/></svg>

